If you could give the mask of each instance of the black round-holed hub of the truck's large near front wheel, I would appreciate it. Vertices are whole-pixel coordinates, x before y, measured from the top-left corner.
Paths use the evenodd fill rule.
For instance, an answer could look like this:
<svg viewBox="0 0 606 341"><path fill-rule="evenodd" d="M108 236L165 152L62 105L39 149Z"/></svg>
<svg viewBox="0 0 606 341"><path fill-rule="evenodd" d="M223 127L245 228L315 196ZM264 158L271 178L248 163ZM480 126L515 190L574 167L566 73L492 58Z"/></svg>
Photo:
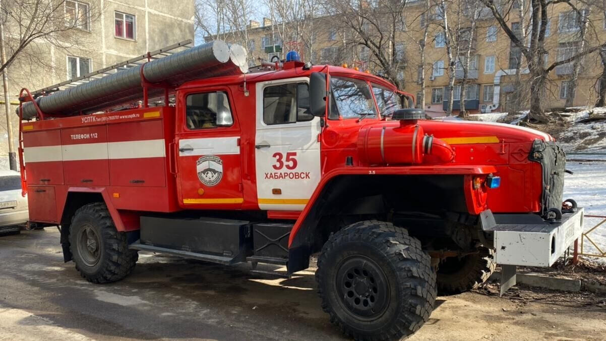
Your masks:
<svg viewBox="0 0 606 341"><path fill-rule="evenodd" d="M358 319L376 319L389 305L387 277L368 257L356 255L344 260L336 286L341 304Z"/></svg>

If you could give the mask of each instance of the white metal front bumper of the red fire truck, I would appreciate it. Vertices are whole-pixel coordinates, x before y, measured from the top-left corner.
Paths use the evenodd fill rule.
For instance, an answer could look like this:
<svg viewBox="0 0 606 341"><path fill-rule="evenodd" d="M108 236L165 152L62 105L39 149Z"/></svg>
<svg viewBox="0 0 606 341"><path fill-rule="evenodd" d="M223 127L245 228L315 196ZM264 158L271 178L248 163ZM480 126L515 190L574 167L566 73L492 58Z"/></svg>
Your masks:
<svg viewBox="0 0 606 341"><path fill-rule="evenodd" d="M494 261L500 265L551 266L583 232L582 208L562 214L558 223L534 214L482 213L482 229L494 234Z"/></svg>

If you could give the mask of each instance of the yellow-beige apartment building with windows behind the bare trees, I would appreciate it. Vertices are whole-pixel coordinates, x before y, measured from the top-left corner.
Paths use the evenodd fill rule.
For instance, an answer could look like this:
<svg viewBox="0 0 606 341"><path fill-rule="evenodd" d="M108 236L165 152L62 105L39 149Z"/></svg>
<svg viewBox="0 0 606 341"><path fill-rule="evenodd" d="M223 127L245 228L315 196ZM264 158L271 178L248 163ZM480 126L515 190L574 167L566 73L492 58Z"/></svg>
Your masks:
<svg viewBox="0 0 606 341"><path fill-rule="evenodd" d="M450 3L449 3L450 4ZM579 5L582 8L582 5ZM454 5L447 8L451 16L450 22L456 18ZM570 10L567 4L555 4L550 7L549 21L545 36L544 62L548 66L554 61L561 61L575 55L581 46L579 32L581 24L576 12ZM513 12L517 13L515 5ZM586 13L586 12L585 12ZM398 27L397 39L391 49L395 49L399 62L399 75L404 79L404 90L416 95L421 89L421 55L419 40L422 39L427 26L428 37L425 43L425 110L434 115L441 115L447 108L448 99L448 58L444 30L441 27L444 13L438 7L427 10L424 1L407 3L404 22ZM465 39L471 39L471 53L467 78L464 78L462 65L464 57L456 62L455 86L453 90L453 111L461 107L461 83L465 81L465 109L474 112L502 112L507 110L527 108L529 90L528 71L522 61L521 68L516 71L521 52L511 44L498 22L488 8L482 9L476 20L476 32L468 38L462 38L461 46L467 44ZM603 44L606 42L606 21L604 12L594 10L588 15L590 30L588 44ZM510 15L505 17L507 24L514 32L520 32L519 19ZM469 30L469 18L462 19L461 30ZM251 21L248 26L248 48L251 63L259 57L269 59L273 55L283 56L290 49L301 52L303 58L314 64L348 64L362 70L380 73L371 62L373 56L362 46L352 44L348 32L338 29L330 17L316 18L313 22L313 33L299 35L298 39L289 39L288 44L282 42L282 24L272 27L269 19L263 24ZM465 35L462 35L465 36ZM346 39L348 38L348 39ZM568 82L573 71L573 63L556 67L548 75L547 91L543 94L545 107L562 107L568 95ZM516 75L516 72L518 73ZM596 101L599 90L598 77L602 72L602 62L599 53L591 53L582 59L578 87L573 105L583 106ZM522 87L522 88L520 88ZM516 91L518 89L522 92ZM525 91L525 92L524 92ZM533 94L535 95L535 94ZM520 106L514 104L520 103Z"/></svg>

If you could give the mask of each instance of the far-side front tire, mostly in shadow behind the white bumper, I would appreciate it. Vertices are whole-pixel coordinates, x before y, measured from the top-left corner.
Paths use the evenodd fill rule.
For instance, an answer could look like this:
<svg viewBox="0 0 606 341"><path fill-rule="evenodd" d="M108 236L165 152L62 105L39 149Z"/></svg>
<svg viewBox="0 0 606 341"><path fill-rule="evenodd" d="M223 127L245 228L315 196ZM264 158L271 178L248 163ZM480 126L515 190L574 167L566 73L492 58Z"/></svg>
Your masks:
<svg viewBox="0 0 606 341"><path fill-rule="evenodd" d="M438 267L438 292L446 295L477 289L496 267L493 251L488 248L480 248L478 253L461 259L447 258L445 262Z"/></svg>

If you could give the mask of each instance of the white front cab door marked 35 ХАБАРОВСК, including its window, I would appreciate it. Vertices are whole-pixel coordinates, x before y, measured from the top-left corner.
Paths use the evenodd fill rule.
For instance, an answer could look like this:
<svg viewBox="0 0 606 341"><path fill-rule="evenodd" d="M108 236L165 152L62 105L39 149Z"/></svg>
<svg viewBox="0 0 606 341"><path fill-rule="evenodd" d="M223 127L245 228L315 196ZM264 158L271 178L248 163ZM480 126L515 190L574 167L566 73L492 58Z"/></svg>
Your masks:
<svg viewBox="0 0 606 341"><path fill-rule="evenodd" d="M260 209L302 211L318 186L320 118L308 78L256 84L255 162Z"/></svg>

